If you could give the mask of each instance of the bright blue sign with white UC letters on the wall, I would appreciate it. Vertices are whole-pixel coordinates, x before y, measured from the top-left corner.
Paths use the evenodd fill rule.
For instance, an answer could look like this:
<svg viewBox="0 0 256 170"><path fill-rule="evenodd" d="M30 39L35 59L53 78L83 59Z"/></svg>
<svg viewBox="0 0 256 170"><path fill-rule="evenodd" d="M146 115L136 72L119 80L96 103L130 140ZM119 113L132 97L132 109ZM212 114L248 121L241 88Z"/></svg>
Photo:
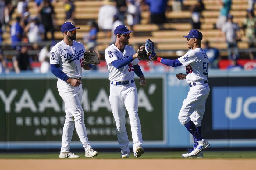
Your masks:
<svg viewBox="0 0 256 170"><path fill-rule="evenodd" d="M212 128L256 129L256 87L213 87Z"/></svg>

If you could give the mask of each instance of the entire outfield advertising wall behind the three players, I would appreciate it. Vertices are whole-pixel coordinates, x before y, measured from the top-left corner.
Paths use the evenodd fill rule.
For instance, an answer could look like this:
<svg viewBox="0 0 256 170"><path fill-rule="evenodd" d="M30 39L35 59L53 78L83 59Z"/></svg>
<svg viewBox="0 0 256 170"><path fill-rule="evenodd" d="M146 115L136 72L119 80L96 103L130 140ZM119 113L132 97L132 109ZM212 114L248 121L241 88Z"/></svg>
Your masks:
<svg viewBox="0 0 256 170"><path fill-rule="evenodd" d="M135 79L144 147L187 148L193 138L178 114L189 86L173 73L146 73L147 85ZM209 71L210 94L202 134L211 147L256 147L256 72ZM60 148L65 104L51 75L0 75L0 149ZM112 116L107 73L83 74L85 125L95 148L119 147ZM130 121L126 129L132 146ZM81 148L76 133L72 148Z"/></svg>

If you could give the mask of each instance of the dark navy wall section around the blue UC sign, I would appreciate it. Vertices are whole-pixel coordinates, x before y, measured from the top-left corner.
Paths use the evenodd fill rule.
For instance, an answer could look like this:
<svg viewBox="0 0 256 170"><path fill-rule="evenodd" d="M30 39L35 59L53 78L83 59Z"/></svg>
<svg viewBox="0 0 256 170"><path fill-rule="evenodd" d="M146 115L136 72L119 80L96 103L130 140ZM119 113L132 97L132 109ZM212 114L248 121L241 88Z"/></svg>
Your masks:
<svg viewBox="0 0 256 170"><path fill-rule="evenodd" d="M256 77L229 75L210 77L204 137L223 147L255 146Z"/></svg>

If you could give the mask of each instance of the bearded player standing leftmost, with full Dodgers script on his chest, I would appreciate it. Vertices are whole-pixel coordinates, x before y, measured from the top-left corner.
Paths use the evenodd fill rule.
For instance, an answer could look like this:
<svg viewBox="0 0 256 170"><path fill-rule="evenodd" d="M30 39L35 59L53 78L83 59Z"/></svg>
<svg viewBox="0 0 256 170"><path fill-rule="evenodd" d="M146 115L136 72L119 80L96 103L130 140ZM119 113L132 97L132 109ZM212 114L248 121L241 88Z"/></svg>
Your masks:
<svg viewBox="0 0 256 170"><path fill-rule="evenodd" d="M66 112L59 158L79 158L78 155L69 151L74 126L84 146L85 156L94 157L98 155L98 152L91 148L88 140L84 124L84 111L81 106L83 94L81 82L82 58L85 48L82 43L74 41L76 39L76 29L79 28L71 22L65 22L61 26L64 39L50 51L51 71L58 77L57 88L59 95L65 102ZM87 65L86 70L90 70L92 67L93 65Z"/></svg>

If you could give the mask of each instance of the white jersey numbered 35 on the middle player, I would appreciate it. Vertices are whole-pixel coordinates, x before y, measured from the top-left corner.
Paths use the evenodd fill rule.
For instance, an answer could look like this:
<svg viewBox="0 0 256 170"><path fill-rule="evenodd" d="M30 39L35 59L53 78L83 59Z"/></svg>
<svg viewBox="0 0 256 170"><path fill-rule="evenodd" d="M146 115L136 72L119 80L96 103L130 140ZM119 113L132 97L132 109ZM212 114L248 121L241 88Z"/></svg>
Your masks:
<svg viewBox="0 0 256 170"><path fill-rule="evenodd" d="M105 50L105 59L106 59L108 71L109 71L108 79L110 81L119 82L119 81L134 79L133 65L136 65L139 63L138 58L131 61L129 64L127 64L127 66L124 66L120 69L117 69L111 63L115 60L126 59L129 56L133 56L134 54L135 54L135 51L131 46L124 46L123 53L114 44L108 46L108 48Z"/></svg>

